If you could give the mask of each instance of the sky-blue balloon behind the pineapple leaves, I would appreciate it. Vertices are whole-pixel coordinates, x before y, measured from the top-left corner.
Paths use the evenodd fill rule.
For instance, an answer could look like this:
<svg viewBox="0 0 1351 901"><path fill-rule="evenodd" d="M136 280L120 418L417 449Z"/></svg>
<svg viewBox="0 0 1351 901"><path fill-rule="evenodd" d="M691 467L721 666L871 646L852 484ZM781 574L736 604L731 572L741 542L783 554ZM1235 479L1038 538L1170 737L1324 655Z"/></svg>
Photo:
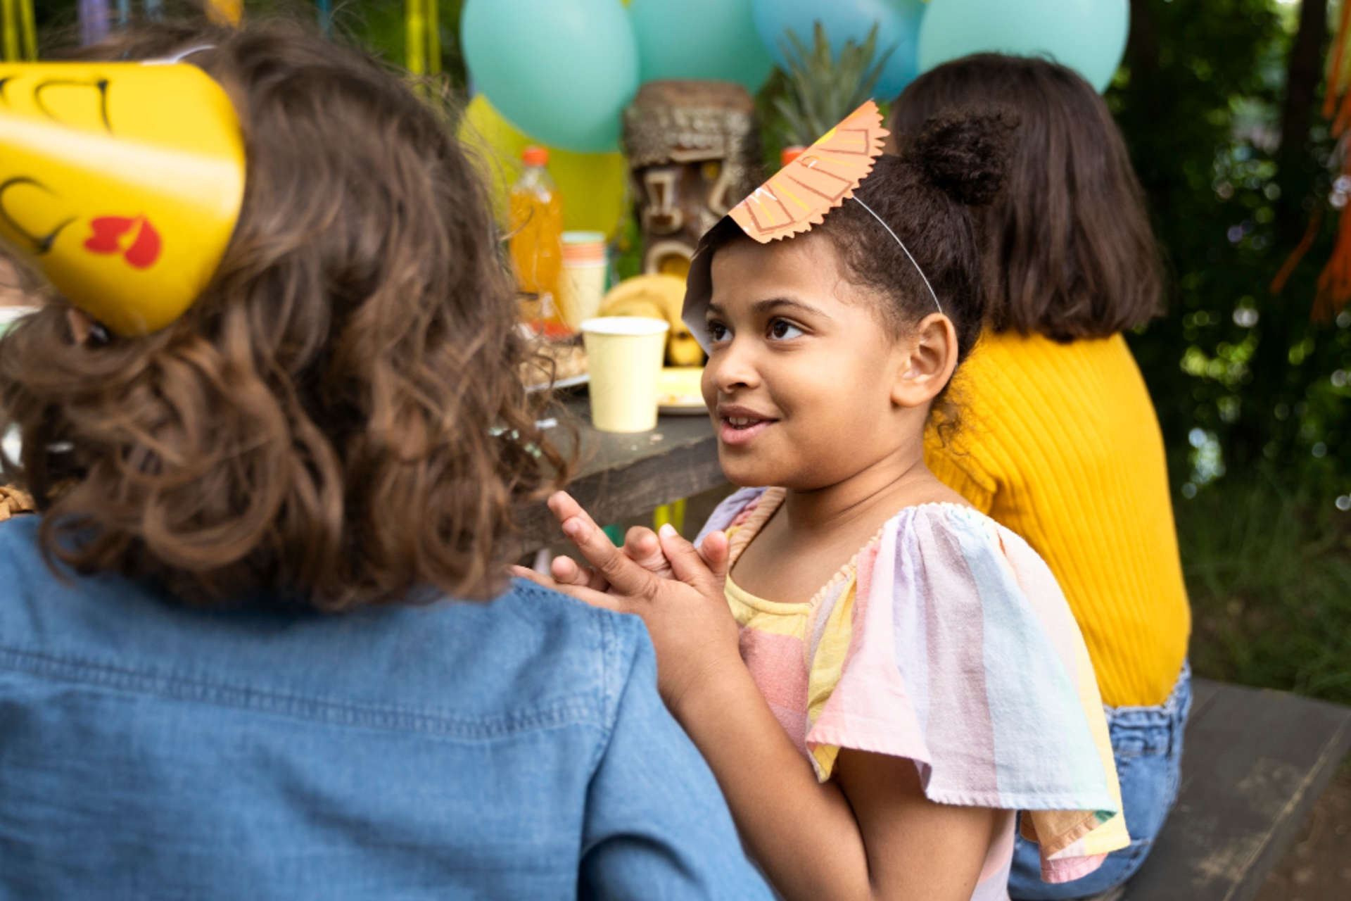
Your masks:
<svg viewBox="0 0 1351 901"><path fill-rule="evenodd" d="M1012 0L1011 0L1012 1ZM784 32L793 30L802 43L812 46L817 20L825 27L831 50L836 54L846 41L862 43L867 30L877 23L877 55L894 47L877 80L873 96L890 100L901 93L919 73L917 47L924 0L755 0L755 28L774 61L784 66Z"/></svg>

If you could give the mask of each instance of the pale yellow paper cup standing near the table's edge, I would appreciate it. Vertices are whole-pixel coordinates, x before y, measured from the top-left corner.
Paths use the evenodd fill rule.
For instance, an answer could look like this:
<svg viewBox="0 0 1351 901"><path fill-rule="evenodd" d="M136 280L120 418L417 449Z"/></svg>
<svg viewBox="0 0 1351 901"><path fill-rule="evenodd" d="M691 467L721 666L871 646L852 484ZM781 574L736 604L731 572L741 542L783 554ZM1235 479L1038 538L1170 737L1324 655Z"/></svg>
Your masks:
<svg viewBox="0 0 1351 901"><path fill-rule="evenodd" d="M665 319L644 316L603 316L581 324L592 426L603 432L657 428L657 380L669 328Z"/></svg>

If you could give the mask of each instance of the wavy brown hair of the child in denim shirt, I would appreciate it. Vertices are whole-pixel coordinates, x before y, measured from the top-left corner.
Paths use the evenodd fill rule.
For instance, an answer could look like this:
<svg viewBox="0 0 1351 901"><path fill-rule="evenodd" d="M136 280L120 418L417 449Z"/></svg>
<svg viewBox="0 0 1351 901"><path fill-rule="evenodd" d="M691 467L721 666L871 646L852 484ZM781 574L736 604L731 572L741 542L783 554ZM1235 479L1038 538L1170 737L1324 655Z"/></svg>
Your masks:
<svg viewBox="0 0 1351 901"><path fill-rule="evenodd" d="M0 339L0 431L23 435L5 475L45 508L45 554L193 604L492 596L513 507L567 465L517 376L473 161L396 74L296 24L146 27L81 55L193 46L247 155L211 284L151 335L77 343L54 297Z"/></svg>

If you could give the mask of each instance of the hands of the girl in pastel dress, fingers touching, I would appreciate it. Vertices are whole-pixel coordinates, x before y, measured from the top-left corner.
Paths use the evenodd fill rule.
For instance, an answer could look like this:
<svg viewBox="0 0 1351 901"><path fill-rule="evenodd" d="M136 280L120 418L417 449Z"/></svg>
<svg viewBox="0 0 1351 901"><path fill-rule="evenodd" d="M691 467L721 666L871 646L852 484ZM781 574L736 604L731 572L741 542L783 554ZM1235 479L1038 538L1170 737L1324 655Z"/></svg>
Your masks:
<svg viewBox="0 0 1351 901"><path fill-rule="evenodd" d="M663 525L657 538L671 575L662 577L626 550L615 547L569 494L558 492L549 498L549 508L563 534L590 563L586 584L578 584L581 580L551 580L521 567L516 567L515 574L592 607L640 616L657 648L658 689L673 712L690 690L713 685L717 674L724 671L721 667L742 666L736 621L723 598L725 535L713 532L704 539L703 548L696 550L674 528ZM582 567L576 569L577 573L584 571ZM566 567L559 574L577 578ZM601 584L604 590L593 586Z"/></svg>

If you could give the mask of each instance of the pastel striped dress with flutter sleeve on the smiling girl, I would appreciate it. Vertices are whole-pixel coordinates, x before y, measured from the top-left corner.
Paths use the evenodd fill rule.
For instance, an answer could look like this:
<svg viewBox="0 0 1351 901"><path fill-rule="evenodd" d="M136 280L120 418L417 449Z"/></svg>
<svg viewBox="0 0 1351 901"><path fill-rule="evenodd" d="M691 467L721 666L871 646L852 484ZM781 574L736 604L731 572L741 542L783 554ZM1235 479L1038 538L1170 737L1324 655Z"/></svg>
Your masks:
<svg viewBox="0 0 1351 901"><path fill-rule="evenodd" d="M709 517L731 562L784 490L742 489ZM811 601L731 578L742 659L823 782L840 748L915 762L939 804L1021 810L1042 878L1077 879L1129 844L1102 701L1084 638L1046 563L957 504L908 507ZM1008 897L1013 816L973 901Z"/></svg>

